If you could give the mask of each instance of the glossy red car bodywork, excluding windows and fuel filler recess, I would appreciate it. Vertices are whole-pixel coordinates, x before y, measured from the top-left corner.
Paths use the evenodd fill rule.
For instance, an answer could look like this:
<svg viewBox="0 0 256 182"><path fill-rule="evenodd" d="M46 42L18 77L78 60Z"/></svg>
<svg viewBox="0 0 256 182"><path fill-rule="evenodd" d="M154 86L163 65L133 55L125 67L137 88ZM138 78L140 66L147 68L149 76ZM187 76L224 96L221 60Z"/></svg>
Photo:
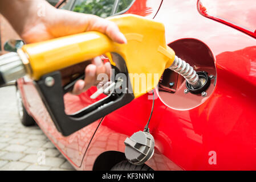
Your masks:
<svg viewBox="0 0 256 182"><path fill-rule="evenodd" d="M205 18L198 13L196 0L159 1L160 9L160 3L159 6L148 7L148 2L152 1L145 1L142 4L145 8L140 11L141 4L136 1L131 12L148 15L148 8L157 9L154 11L158 11L157 14L151 15L151 18L155 17L155 20L165 24L166 43L186 38L200 40L213 54L217 71L213 93L193 109L172 109L171 102L165 105L161 96L156 99L149 125L156 147L153 158L147 162L148 166L155 170L255 170L256 40ZM241 7L241 11L246 9ZM193 54L193 44L190 46L191 51L188 49L184 55ZM124 152L124 139L143 130L151 112L152 100L148 100L149 94L146 94L108 114L102 122L96 121L70 137L62 137L31 81L24 83L20 79L18 85L26 109L79 170L91 170L97 156L105 151ZM67 95L66 110L74 111L90 104L90 92L92 90L80 97ZM156 95L159 96L157 89ZM216 152L216 165L208 162L210 151Z"/></svg>

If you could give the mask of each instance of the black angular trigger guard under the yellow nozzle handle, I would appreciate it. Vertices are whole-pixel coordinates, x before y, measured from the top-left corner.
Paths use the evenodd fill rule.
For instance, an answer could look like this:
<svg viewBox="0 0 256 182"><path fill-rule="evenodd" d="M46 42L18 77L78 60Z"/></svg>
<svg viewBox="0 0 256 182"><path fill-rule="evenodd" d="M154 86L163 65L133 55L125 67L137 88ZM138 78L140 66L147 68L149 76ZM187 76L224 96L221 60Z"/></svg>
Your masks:
<svg viewBox="0 0 256 182"><path fill-rule="evenodd" d="M124 74L128 78L128 72L125 72ZM47 77L54 78L54 85L47 86L45 84ZM75 83L75 81L73 82ZM58 131L64 136L68 136L85 126L90 125L97 119L100 119L112 111L128 104L134 98L133 93L129 90L129 88L132 87L128 80L127 85L124 85L126 86L125 93L109 94L94 104L91 104L72 115L67 115L64 108L62 77L59 71L48 73L47 75L42 76L39 81L34 83L52 121ZM72 86L72 82L70 85ZM68 86L66 90L71 89L71 86Z"/></svg>

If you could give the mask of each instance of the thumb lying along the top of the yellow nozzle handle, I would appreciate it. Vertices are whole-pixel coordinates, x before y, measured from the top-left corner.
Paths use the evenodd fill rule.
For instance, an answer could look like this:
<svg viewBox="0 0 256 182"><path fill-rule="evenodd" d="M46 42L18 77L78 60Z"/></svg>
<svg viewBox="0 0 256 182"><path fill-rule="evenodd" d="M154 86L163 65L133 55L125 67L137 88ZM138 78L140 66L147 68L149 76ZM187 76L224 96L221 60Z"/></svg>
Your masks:
<svg viewBox="0 0 256 182"><path fill-rule="evenodd" d="M124 34L122 34L117 26L116 23L111 22L107 19L103 19L100 17L92 16L90 19L90 23L88 24L86 31L99 31L103 34L106 34L111 38L113 41L126 44L127 39L125 38Z"/></svg>

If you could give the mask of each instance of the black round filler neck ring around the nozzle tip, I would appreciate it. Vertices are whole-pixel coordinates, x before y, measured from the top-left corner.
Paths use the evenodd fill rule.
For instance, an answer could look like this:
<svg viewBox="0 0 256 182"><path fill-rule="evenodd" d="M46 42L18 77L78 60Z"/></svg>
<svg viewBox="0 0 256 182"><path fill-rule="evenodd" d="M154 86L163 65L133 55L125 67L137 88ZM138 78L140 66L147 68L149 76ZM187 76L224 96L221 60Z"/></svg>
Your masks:
<svg viewBox="0 0 256 182"><path fill-rule="evenodd" d="M196 72L198 75L198 87L194 87L192 84L189 84L188 81L186 81L186 88L188 88L189 92L191 93L202 93L206 89L208 89L210 85L210 78L208 77L207 72Z"/></svg>

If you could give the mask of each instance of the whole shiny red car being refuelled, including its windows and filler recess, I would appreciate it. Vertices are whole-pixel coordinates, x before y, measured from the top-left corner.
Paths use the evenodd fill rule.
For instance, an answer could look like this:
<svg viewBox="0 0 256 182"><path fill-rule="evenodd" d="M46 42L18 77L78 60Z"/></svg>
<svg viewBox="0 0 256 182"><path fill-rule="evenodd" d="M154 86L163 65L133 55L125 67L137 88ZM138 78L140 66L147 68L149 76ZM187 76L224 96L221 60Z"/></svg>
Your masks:
<svg viewBox="0 0 256 182"><path fill-rule="evenodd" d="M63 137L35 85L24 77L17 81L23 125L35 121L78 170L255 170L254 0L97 3L99 6L92 1L70 0L58 6L102 17L137 14L164 23L168 46L196 71L208 73L209 88L202 93L190 93L183 77L170 70L164 72L155 89L157 98L149 124L155 152L139 167L125 159L124 140L144 129L151 113L150 93ZM94 103L90 96L95 91L96 88L91 88L79 96L65 94L66 113L75 113Z"/></svg>

